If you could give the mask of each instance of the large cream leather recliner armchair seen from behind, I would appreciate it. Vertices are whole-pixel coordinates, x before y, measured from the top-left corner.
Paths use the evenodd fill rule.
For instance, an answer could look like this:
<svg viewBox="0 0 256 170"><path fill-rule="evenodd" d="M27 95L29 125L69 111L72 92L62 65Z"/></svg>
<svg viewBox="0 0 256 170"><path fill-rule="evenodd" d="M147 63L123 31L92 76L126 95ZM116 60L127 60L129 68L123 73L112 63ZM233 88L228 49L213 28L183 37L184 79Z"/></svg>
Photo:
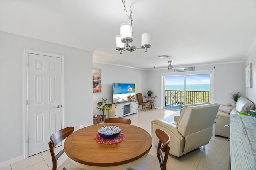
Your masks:
<svg viewBox="0 0 256 170"><path fill-rule="evenodd" d="M171 137L169 153L177 157L208 144L219 106L217 103L184 105L180 110L180 116L175 116L172 122L153 120L152 142L154 145L158 144L158 138L153 132L162 129Z"/></svg>

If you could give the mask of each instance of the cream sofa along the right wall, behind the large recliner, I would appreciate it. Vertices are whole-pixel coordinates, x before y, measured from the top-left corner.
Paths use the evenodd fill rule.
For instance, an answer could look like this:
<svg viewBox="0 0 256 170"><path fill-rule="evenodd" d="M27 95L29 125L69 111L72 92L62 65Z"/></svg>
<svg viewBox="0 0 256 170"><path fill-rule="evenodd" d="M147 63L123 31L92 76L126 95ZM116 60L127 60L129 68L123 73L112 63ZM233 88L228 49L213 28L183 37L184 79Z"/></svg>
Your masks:
<svg viewBox="0 0 256 170"><path fill-rule="evenodd" d="M230 124L230 114L247 113L248 109L254 108L254 104L245 97L238 98L236 106L220 105L219 111L215 119L215 135L228 137L230 135L230 127L224 127Z"/></svg>

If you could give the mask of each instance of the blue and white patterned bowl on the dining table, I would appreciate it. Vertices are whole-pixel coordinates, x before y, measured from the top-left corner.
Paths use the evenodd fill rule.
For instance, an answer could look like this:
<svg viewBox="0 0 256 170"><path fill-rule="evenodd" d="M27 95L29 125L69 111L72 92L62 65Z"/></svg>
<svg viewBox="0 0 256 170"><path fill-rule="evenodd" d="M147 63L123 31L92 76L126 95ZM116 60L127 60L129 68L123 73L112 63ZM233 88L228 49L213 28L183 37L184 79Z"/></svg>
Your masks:
<svg viewBox="0 0 256 170"><path fill-rule="evenodd" d="M121 133L121 128L118 126L102 126L98 129L98 133L105 139L114 139Z"/></svg>

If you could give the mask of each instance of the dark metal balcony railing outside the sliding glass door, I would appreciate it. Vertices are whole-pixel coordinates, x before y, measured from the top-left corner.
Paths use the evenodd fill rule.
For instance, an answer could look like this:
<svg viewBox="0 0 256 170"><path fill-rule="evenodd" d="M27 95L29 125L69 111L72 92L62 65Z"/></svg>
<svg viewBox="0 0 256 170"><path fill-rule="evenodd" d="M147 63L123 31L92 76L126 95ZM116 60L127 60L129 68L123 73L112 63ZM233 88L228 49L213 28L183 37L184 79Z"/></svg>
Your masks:
<svg viewBox="0 0 256 170"><path fill-rule="evenodd" d="M194 104L211 102L210 91L186 91L186 101L184 99L184 90L165 90L165 104L173 106L182 106L184 104Z"/></svg>

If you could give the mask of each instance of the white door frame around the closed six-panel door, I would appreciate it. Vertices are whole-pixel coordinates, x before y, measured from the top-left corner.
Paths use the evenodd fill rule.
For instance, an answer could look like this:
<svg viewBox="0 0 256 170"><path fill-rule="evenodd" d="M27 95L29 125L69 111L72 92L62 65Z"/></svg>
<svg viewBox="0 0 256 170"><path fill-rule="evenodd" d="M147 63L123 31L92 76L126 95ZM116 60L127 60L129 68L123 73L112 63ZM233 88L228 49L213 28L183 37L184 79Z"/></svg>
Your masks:
<svg viewBox="0 0 256 170"><path fill-rule="evenodd" d="M24 159L28 158L28 54L38 54L46 55L51 57L61 58L61 127L63 128L64 120L64 55L45 53L42 51L34 51L29 49L24 49L24 90L23 90L23 122L24 122Z"/></svg>

